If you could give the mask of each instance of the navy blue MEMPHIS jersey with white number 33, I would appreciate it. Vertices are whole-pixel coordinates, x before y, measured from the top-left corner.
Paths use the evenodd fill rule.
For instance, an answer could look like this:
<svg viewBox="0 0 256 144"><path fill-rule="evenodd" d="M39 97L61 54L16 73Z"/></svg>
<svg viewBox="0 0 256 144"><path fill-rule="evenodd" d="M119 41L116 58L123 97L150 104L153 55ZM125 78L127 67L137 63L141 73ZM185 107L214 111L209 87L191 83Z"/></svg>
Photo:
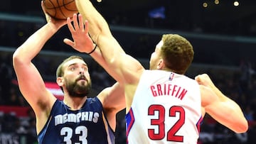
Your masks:
<svg viewBox="0 0 256 144"><path fill-rule="evenodd" d="M56 100L50 116L38 135L39 144L114 143L114 131L108 125L99 99L87 98L80 110L70 110Z"/></svg>

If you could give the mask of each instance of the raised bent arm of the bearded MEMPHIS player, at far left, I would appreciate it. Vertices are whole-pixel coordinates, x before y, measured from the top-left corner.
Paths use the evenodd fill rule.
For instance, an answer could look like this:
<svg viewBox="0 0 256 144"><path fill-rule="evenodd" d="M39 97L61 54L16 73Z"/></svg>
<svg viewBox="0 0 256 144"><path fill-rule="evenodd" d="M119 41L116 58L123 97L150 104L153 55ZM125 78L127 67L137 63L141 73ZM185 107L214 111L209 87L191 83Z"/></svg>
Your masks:
<svg viewBox="0 0 256 144"><path fill-rule="evenodd" d="M54 21L51 18L48 20L48 23L33 33L13 55L18 87L36 113L37 131L41 131L46 123L47 114L50 113L55 97L46 89L41 74L33 65L32 60L41 51L46 41L65 24L65 21Z"/></svg>

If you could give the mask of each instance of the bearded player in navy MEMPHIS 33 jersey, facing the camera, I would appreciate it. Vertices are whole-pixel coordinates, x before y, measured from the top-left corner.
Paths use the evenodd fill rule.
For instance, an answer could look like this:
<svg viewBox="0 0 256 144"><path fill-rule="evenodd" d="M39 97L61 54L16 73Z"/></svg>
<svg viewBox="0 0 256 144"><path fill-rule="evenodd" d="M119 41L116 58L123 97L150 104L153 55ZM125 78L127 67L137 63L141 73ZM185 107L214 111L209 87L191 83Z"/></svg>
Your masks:
<svg viewBox="0 0 256 144"><path fill-rule="evenodd" d="M124 88L116 83L96 97L88 98L91 89L88 66L81 57L70 56L56 72L56 82L64 93L63 101L56 99L31 62L47 40L67 22L47 19L48 23L13 55L18 87L36 114L38 143L114 143L116 113L125 108Z"/></svg>

